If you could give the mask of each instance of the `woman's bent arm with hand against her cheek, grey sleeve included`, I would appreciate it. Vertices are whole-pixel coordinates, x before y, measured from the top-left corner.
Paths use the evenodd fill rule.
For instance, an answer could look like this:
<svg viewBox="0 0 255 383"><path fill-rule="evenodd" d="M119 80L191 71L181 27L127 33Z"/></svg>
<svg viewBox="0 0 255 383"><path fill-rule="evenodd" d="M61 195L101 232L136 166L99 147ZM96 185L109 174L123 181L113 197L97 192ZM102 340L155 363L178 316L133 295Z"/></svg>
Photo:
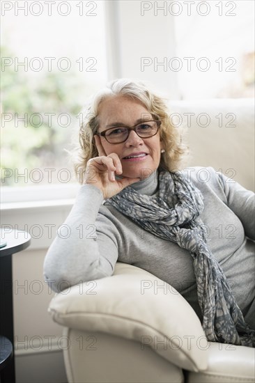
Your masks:
<svg viewBox="0 0 255 383"><path fill-rule="evenodd" d="M45 281L54 291L109 276L118 259L118 230L110 219L98 214L99 208L104 198L139 178L116 179L115 174L122 173L118 155L106 155L98 136L95 145L100 156L88 161L84 185L45 258Z"/></svg>

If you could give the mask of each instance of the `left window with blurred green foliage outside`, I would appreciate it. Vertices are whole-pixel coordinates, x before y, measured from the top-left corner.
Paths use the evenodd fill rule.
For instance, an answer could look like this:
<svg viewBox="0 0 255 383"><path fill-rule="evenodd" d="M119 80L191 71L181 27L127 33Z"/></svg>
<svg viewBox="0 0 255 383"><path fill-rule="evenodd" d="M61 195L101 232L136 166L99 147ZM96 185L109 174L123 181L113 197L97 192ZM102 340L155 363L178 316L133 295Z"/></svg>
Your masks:
<svg viewBox="0 0 255 383"><path fill-rule="evenodd" d="M107 81L104 1L6 1L1 12L1 186L70 185L65 149Z"/></svg>

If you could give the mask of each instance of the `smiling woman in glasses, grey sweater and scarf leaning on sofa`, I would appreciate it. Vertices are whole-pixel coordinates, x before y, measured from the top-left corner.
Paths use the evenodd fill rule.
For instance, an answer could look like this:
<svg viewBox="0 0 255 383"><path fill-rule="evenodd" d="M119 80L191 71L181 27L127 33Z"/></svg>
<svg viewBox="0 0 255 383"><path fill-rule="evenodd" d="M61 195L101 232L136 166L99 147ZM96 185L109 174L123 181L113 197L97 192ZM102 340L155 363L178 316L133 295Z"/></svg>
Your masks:
<svg viewBox="0 0 255 383"><path fill-rule="evenodd" d="M208 341L254 347L254 194L212 168L208 182L200 168L190 179L177 171L180 134L139 81L118 79L91 99L80 146L82 187L62 226L70 235L59 231L45 258L53 290L129 263L176 288ZM219 223L236 228L231 241L217 236Z"/></svg>

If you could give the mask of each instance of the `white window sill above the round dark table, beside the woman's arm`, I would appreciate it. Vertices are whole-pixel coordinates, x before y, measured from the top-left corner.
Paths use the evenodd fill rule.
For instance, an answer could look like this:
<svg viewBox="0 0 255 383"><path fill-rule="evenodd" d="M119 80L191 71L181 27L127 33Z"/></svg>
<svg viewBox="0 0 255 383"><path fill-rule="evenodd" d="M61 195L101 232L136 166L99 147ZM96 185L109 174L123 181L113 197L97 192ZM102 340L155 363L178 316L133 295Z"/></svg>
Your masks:
<svg viewBox="0 0 255 383"><path fill-rule="evenodd" d="M26 230L31 235L28 251L44 249L56 236L56 230L63 224L75 202L80 185L65 187L26 187L12 189L1 203L1 228L4 232ZM18 190L20 189L20 191ZM3 196L3 190L1 190ZM39 197L42 196L41 199Z"/></svg>

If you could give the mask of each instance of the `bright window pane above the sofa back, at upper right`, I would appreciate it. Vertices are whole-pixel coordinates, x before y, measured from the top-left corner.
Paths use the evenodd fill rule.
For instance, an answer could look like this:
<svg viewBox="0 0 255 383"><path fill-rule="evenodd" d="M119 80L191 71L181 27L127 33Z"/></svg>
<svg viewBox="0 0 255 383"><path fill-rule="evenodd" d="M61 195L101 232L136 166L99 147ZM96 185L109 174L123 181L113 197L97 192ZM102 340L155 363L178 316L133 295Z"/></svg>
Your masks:
<svg viewBox="0 0 255 383"><path fill-rule="evenodd" d="M254 97L254 1L173 3L181 98Z"/></svg>

